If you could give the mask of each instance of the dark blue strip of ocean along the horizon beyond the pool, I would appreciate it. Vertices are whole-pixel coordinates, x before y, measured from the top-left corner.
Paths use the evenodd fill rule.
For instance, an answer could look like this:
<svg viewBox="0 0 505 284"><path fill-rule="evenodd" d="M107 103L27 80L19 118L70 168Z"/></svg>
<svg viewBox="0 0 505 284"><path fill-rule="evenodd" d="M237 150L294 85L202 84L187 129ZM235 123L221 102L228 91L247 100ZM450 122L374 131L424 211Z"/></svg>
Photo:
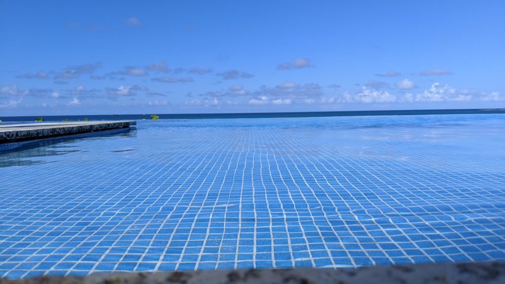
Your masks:
<svg viewBox="0 0 505 284"><path fill-rule="evenodd" d="M206 113L206 114L157 114L160 119L216 119L216 118L274 118L274 117L328 117L328 116L378 116L378 115L429 115L429 114L505 114L505 109L461 110L392 110L392 111L338 111L338 112L274 112L274 113ZM45 121L68 120L142 120L151 114L112 115L55 115L43 116ZM0 116L4 122L34 121L36 116Z"/></svg>

